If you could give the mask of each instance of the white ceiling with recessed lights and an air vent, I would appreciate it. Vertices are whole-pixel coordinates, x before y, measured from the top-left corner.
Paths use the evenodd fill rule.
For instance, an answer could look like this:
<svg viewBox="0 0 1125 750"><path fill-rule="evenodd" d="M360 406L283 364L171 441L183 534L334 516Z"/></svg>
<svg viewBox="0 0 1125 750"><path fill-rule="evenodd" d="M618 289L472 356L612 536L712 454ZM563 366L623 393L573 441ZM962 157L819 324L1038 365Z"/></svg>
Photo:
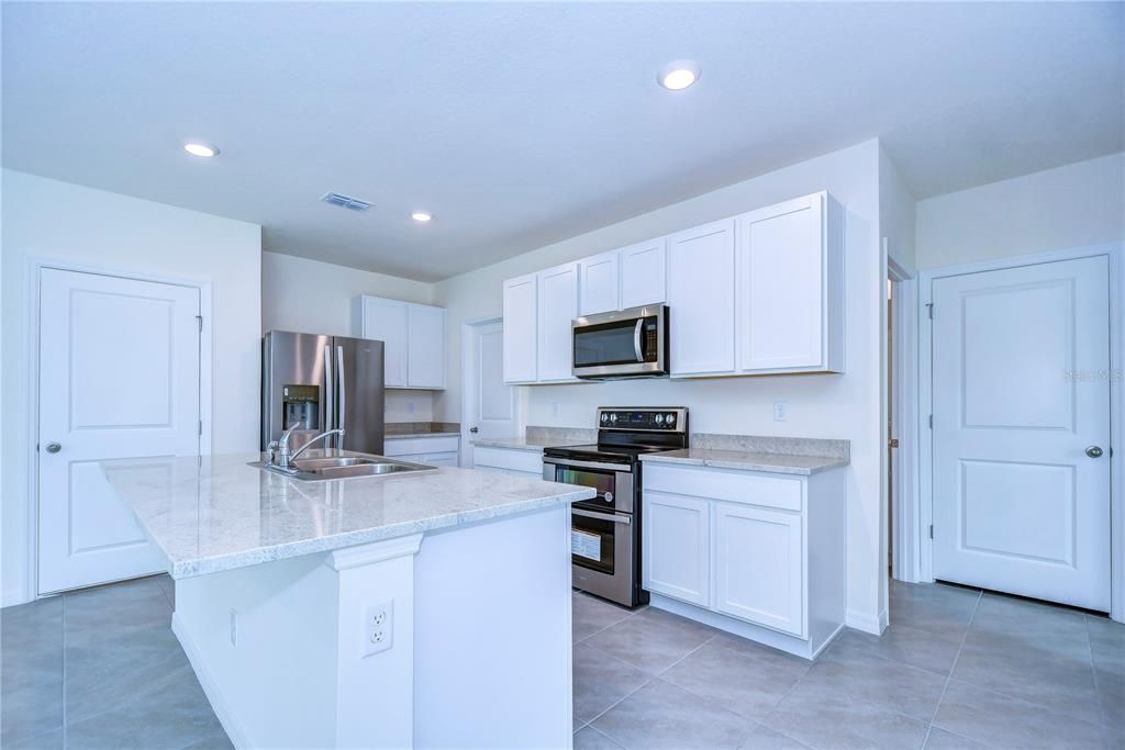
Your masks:
<svg viewBox="0 0 1125 750"><path fill-rule="evenodd" d="M1123 49L1119 3L4 2L3 164L434 280L872 136L918 198L1120 151Z"/></svg>

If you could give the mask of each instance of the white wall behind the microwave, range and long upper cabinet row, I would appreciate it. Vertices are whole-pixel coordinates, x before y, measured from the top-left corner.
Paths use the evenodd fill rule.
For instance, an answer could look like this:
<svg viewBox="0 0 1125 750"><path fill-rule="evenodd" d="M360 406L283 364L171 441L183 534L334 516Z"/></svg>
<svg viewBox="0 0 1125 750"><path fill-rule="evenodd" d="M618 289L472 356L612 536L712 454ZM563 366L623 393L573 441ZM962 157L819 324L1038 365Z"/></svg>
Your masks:
<svg viewBox="0 0 1125 750"><path fill-rule="evenodd" d="M847 211L845 374L532 387L526 423L592 427L601 405L684 405L695 432L850 440L848 608L850 622L876 627L885 578L879 567L884 346L879 151L879 143L868 141L438 282L435 302L449 309L450 388L438 397L436 418L460 418L461 325L501 314L504 279L827 189ZM773 421L774 400L789 403L788 422Z"/></svg>

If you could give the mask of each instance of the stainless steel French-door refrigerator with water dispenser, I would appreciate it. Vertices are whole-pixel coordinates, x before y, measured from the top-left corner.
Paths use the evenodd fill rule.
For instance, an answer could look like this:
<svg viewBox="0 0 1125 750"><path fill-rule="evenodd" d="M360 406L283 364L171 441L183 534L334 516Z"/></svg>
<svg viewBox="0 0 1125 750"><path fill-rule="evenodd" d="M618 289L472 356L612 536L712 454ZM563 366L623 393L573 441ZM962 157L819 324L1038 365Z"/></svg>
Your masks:
<svg viewBox="0 0 1125 750"><path fill-rule="evenodd" d="M382 454L382 342L271 331L262 336L262 445L299 424L292 446L326 430L325 448ZM321 445L314 445L321 448Z"/></svg>

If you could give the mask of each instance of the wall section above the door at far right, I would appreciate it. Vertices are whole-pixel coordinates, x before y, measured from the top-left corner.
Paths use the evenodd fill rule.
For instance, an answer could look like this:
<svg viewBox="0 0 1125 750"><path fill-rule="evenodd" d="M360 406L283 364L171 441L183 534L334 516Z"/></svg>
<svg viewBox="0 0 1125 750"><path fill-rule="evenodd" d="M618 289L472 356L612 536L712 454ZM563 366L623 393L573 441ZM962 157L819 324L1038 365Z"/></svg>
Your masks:
<svg viewBox="0 0 1125 750"><path fill-rule="evenodd" d="M1125 240L1125 154L918 202L918 268Z"/></svg>

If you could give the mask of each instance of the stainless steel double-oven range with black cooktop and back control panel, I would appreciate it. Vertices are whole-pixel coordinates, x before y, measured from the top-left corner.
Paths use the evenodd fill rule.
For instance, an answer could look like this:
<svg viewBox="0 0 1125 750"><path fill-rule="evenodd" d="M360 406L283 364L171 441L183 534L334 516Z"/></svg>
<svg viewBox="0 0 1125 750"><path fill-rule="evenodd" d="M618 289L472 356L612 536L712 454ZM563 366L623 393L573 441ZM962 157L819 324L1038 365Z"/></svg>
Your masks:
<svg viewBox="0 0 1125 750"><path fill-rule="evenodd" d="M683 407L602 407L597 444L548 448L543 479L593 487L597 497L570 510L570 562L576 588L628 607L648 602L640 581L640 455L687 448Z"/></svg>

